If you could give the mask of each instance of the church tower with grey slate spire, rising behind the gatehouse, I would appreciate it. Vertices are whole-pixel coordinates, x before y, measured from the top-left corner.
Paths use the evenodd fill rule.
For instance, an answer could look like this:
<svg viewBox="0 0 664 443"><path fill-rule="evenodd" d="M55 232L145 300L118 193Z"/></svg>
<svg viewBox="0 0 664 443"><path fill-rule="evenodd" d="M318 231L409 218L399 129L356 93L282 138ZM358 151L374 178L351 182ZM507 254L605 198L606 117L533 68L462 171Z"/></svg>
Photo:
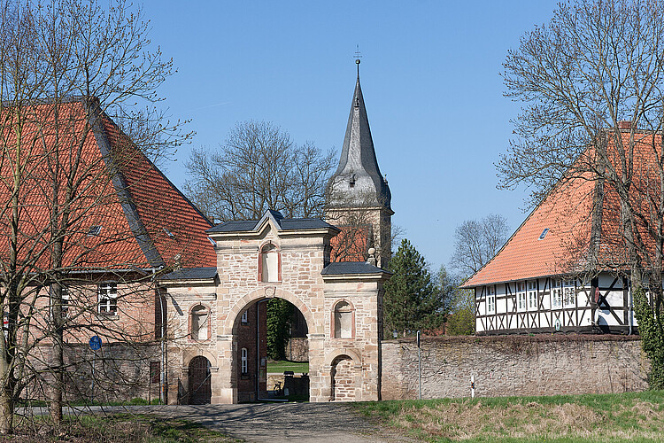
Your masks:
<svg viewBox="0 0 664 443"><path fill-rule="evenodd" d="M391 256L391 193L375 157L367 109L355 82L339 167L330 179L327 220L342 229L334 242L337 261L367 260L375 250L376 265L385 268Z"/></svg>

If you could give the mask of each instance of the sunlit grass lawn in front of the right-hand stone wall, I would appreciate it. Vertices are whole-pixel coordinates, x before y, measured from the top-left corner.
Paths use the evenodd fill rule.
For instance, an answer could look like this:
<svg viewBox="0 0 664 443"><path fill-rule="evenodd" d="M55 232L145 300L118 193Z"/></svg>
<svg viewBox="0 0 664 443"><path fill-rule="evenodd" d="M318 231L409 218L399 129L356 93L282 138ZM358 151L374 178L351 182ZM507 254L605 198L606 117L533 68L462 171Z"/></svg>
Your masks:
<svg viewBox="0 0 664 443"><path fill-rule="evenodd" d="M353 407L431 442L664 441L664 391L389 400Z"/></svg>

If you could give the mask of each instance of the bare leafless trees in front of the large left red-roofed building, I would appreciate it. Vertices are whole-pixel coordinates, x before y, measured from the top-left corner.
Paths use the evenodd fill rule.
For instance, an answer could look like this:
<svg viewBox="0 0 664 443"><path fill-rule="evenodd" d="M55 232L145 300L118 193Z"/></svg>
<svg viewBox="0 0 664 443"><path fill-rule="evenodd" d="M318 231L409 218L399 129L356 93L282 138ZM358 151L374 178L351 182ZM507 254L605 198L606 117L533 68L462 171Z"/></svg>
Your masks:
<svg viewBox="0 0 664 443"><path fill-rule="evenodd" d="M75 315L62 313L70 303L63 298L66 288L89 286L94 280L81 275L92 268L97 275L115 272L104 260L108 246L135 235L109 228L94 240L89 236L89 222L103 219L105 208L122 198L112 185L118 168L143 154L154 158L186 137L154 107L154 91L171 62L149 50L148 26L123 0L0 4L0 223L9 237L0 266L0 307L8 321L0 334L3 433L12 431L13 401L27 380L45 372L52 377L51 417L59 425L66 335L105 330L117 339L144 336L96 322L96 291L71 302ZM135 107L136 100L146 108ZM109 115L127 123L129 134L141 128L141 137L128 142L112 128L118 149L90 157L86 147L98 128L112 125ZM131 253L125 259L127 266L141 262ZM150 276L131 278L152 284ZM47 368L36 368L34 351L47 343Z"/></svg>

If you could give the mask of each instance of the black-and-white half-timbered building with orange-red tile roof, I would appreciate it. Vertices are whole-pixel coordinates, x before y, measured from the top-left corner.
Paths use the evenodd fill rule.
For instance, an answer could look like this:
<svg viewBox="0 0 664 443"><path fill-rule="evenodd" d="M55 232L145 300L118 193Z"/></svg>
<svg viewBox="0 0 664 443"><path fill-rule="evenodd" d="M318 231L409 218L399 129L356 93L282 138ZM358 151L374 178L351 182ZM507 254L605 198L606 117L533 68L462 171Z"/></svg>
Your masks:
<svg viewBox="0 0 664 443"><path fill-rule="evenodd" d="M652 134L620 130L637 139L635 167L647 170ZM475 332L636 333L620 217L608 183L591 173L561 180L463 285L475 290Z"/></svg>

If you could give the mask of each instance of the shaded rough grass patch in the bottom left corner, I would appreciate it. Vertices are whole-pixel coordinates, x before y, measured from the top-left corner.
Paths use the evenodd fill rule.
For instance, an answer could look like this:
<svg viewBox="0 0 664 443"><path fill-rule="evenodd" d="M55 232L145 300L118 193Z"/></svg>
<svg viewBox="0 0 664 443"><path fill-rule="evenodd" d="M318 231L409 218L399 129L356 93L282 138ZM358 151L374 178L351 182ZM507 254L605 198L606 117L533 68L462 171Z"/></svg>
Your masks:
<svg viewBox="0 0 664 443"><path fill-rule="evenodd" d="M56 431L47 420L19 423L14 434L0 437L0 442L56 442L74 443L228 443L231 439L200 424L158 416L116 414L66 417L63 427Z"/></svg>

